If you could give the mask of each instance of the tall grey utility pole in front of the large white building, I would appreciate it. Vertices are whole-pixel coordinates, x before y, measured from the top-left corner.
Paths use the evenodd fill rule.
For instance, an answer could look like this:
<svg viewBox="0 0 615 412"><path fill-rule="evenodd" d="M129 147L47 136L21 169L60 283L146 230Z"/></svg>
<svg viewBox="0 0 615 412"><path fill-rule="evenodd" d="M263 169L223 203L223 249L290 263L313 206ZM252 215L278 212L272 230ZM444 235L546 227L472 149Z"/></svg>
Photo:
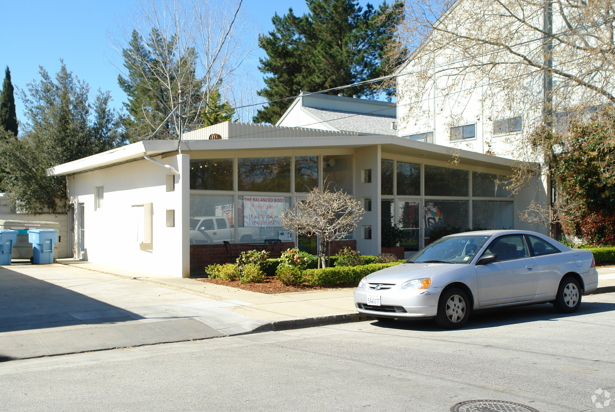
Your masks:
<svg viewBox="0 0 615 412"><path fill-rule="evenodd" d="M553 132L553 3L551 0L545 0L544 10L542 12L542 31L544 31L544 41L542 42L543 53L543 70L542 70L542 121L544 122L547 133ZM549 159L544 159L546 169L546 181L544 184L549 196L549 217L553 221L553 193L551 190L551 172ZM553 237L553 224L549 225L550 237Z"/></svg>

